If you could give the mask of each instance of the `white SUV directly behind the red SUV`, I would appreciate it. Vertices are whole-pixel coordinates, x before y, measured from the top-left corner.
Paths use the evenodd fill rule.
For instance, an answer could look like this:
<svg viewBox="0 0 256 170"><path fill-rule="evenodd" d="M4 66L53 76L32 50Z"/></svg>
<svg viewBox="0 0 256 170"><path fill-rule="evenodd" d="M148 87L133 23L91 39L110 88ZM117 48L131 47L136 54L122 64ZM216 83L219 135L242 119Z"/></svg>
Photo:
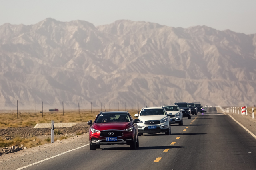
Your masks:
<svg viewBox="0 0 256 170"><path fill-rule="evenodd" d="M164 107L144 107L135 117L140 119L137 123L139 135L143 133L161 133L171 134L170 117L167 115Z"/></svg>

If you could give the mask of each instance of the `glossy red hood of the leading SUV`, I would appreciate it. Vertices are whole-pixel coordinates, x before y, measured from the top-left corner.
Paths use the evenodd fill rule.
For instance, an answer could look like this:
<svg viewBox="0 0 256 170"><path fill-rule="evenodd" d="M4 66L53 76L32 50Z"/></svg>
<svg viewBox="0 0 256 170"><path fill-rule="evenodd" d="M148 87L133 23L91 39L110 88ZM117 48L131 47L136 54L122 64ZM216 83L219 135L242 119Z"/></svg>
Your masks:
<svg viewBox="0 0 256 170"><path fill-rule="evenodd" d="M128 129L132 126L131 122L111 122L111 123L94 123L92 125L93 129L99 130L99 131L105 131L105 130L124 130Z"/></svg>

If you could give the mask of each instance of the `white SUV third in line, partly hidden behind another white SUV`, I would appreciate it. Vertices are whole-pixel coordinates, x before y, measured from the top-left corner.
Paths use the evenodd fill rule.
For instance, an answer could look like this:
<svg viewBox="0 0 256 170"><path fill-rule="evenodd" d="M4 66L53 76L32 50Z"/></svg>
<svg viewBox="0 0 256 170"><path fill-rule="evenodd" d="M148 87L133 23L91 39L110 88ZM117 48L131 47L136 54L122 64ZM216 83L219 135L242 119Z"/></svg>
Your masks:
<svg viewBox="0 0 256 170"><path fill-rule="evenodd" d="M163 107L168 116L170 116L171 124L178 123L180 126L183 125L183 109L180 109L177 105L165 105Z"/></svg>

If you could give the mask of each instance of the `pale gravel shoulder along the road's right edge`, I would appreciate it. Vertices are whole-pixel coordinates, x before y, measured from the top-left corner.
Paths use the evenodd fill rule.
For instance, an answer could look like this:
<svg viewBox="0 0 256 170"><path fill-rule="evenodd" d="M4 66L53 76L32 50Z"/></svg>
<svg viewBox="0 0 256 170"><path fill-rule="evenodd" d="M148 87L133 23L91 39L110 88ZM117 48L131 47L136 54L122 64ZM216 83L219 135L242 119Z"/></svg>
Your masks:
<svg viewBox="0 0 256 170"><path fill-rule="evenodd" d="M220 108L216 107L216 109L219 113L223 113ZM250 115L246 116L246 115L241 115L241 114L236 114L236 113L225 113L225 114L231 115L232 117L234 117L234 119L236 119L236 121L238 121L239 123L244 125L244 127L246 127L254 135L256 135L256 119L255 118L252 119L252 116L250 116Z"/></svg>

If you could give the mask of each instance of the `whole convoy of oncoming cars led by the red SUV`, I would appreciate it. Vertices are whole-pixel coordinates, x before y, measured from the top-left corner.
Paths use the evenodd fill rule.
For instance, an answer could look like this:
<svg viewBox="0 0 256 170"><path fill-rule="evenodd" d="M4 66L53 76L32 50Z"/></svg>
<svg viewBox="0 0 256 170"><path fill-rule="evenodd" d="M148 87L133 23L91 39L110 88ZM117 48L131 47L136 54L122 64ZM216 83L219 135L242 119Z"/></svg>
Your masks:
<svg viewBox="0 0 256 170"><path fill-rule="evenodd" d="M130 149L139 147L139 137L144 133L171 134L171 124L183 125L183 118L191 119L197 112L204 113L201 104L177 102L161 107L143 107L133 119L128 111L105 111L96 116L94 122L88 121L90 150L101 145L130 145Z"/></svg>

